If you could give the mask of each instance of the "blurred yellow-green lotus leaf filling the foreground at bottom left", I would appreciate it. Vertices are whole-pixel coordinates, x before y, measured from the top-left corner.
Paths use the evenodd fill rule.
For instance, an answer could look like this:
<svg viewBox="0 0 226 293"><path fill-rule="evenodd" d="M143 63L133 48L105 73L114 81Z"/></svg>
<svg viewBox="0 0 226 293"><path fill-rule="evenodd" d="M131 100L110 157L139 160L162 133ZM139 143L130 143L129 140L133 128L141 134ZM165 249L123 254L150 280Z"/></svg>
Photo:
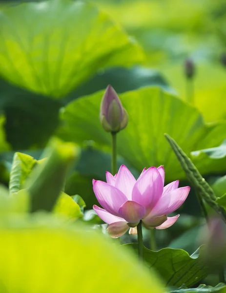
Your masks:
<svg viewBox="0 0 226 293"><path fill-rule="evenodd" d="M130 251L85 225L12 215L0 236L0 292L164 292Z"/></svg>

